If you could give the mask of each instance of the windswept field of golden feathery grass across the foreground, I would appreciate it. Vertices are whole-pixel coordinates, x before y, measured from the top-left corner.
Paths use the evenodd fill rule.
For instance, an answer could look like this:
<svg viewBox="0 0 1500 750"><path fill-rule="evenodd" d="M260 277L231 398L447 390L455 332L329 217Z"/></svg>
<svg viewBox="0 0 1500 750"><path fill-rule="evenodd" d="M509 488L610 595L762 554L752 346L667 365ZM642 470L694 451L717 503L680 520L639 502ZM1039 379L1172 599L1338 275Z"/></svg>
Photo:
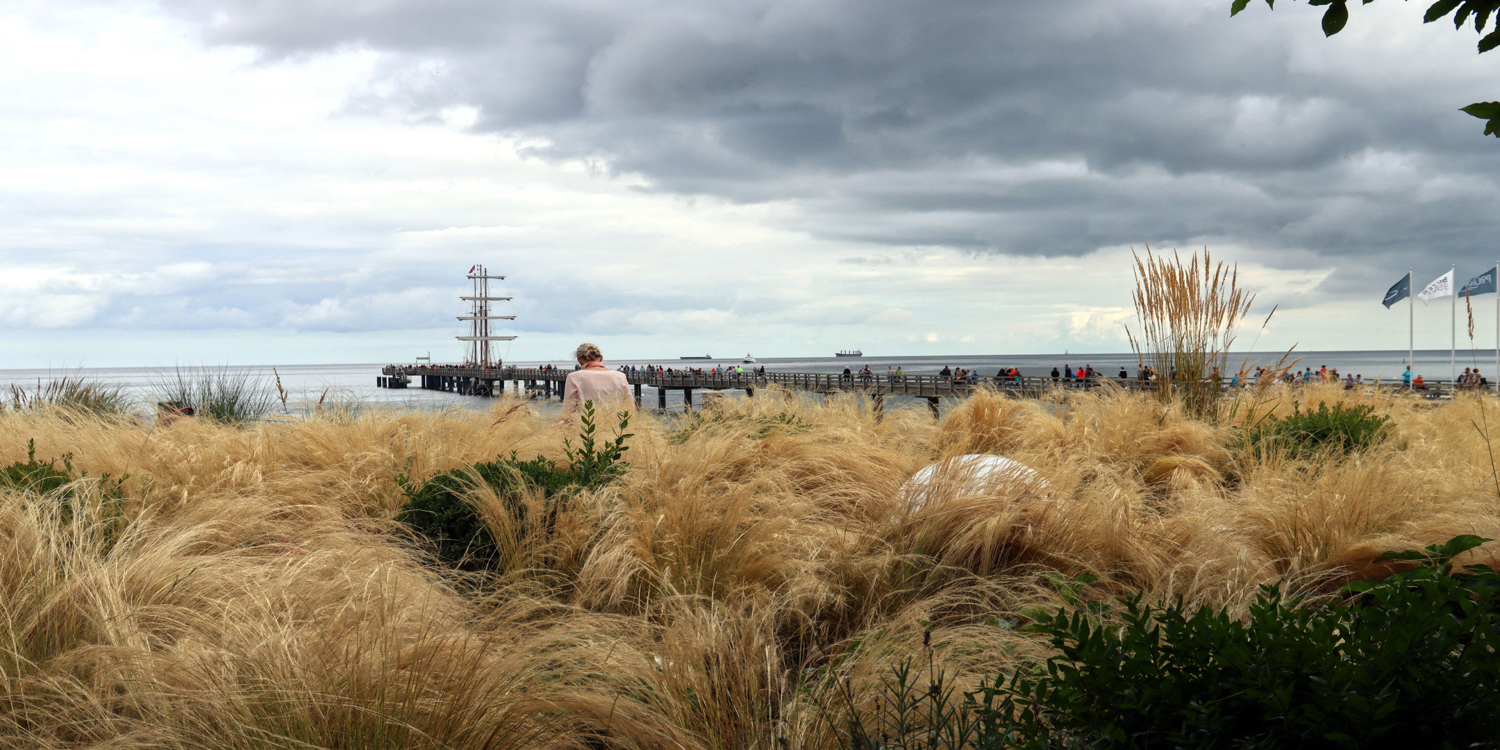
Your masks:
<svg viewBox="0 0 1500 750"><path fill-rule="evenodd" d="M825 748L927 628L957 684L1046 656L1011 626L1059 602L1054 576L1236 608L1260 584L1382 574L1386 549L1500 537L1473 428L1494 399L1254 398L1215 420L1110 387L981 392L940 422L774 392L640 414L624 477L544 538L476 494L506 550L486 580L390 532L396 477L564 459L576 426L536 406L160 428L6 411L0 462L34 438L86 477L0 490L0 746ZM1347 458L1236 447L1232 416L1293 400L1370 404L1394 429ZM964 453L1050 490L903 501Z"/></svg>

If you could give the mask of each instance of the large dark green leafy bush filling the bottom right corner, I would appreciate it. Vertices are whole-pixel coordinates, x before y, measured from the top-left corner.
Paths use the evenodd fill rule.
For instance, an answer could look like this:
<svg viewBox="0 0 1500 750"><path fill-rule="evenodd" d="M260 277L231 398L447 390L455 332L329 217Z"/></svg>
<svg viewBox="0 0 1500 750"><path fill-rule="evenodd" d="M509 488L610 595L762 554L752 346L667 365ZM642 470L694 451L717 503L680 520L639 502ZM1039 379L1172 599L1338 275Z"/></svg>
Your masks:
<svg viewBox="0 0 1500 750"><path fill-rule="evenodd" d="M1138 596L1038 614L1028 628L1058 650L1040 669L968 693L962 718L940 675L898 704L897 669L880 732L842 732L844 747L1497 747L1500 574L1452 564L1485 542L1388 554L1414 567L1328 604L1266 586L1244 620Z"/></svg>

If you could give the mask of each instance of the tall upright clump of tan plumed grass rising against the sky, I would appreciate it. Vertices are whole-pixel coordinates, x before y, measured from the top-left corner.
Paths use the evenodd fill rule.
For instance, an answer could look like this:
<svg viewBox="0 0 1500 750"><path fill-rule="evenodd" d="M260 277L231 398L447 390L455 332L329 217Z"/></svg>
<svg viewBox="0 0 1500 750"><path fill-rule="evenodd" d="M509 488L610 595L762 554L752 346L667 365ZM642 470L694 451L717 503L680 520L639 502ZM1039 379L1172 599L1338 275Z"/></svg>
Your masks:
<svg viewBox="0 0 1500 750"><path fill-rule="evenodd" d="M1132 256L1140 338L1126 327L1131 348L1142 366L1161 375L1162 399L1180 398L1190 414L1214 417L1224 354L1256 296L1239 288L1238 267L1214 264L1208 248L1188 262L1176 252L1158 258L1149 246L1144 260Z"/></svg>

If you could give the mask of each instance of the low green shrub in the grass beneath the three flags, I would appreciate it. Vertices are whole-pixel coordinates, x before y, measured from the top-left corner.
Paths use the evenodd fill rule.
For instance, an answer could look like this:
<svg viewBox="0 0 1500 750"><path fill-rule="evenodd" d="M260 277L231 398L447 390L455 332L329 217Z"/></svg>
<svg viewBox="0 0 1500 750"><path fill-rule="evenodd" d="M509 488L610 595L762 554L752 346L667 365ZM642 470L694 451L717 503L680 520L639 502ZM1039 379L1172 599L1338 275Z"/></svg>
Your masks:
<svg viewBox="0 0 1500 750"><path fill-rule="evenodd" d="M1390 417L1374 414L1368 405L1350 406L1318 402L1317 410L1302 411L1296 402L1287 417L1266 417L1256 428L1245 430L1242 444L1254 454L1282 453L1287 456L1314 456L1324 452L1356 453L1380 442Z"/></svg>

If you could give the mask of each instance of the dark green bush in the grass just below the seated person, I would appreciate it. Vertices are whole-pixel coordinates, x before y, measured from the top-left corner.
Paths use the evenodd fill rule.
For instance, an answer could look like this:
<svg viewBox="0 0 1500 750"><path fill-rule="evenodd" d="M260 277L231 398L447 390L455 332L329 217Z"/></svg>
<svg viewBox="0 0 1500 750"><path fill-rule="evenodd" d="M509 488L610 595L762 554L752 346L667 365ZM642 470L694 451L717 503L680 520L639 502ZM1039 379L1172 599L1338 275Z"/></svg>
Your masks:
<svg viewBox="0 0 1500 750"><path fill-rule="evenodd" d="M628 466L620 460L628 450L626 438L632 436L626 432L630 426L628 412L620 414L620 429L612 440L598 441L594 404L585 402L582 426L578 448L573 448L572 441L564 441L567 468L542 456L520 460L512 453L510 458L441 471L422 484L410 484L405 477L396 477L406 494L406 504L396 520L423 538L444 566L464 572L495 570L500 562L495 537L470 504L470 496L478 486L495 489L506 510L516 519L518 534L550 536L572 492L604 486ZM540 492L546 500L542 518L531 518L524 502L526 490Z"/></svg>

